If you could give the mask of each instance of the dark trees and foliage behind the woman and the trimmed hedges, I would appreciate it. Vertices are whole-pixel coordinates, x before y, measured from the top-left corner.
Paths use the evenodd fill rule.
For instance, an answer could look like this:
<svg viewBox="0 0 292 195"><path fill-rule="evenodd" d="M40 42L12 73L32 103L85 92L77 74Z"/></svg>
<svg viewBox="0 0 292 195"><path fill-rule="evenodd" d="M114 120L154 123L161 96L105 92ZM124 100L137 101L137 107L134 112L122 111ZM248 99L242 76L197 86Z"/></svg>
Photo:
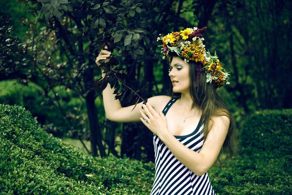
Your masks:
<svg viewBox="0 0 292 195"><path fill-rule="evenodd" d="M291 108L292 4L285 0L3 0L0 103L29 109L58 137L91 141L93 156L153 161L152 134L140 123L106 120L95 81L110 42L123 81L149 98L171 90L156 38L207 26L205 44L230 71L219 89L238 126L263 109ZM20 83L21 85L14 84ZM27 85L27 87L24 87ZM121 97L123 106L130 91ZM148 137L148 138L147 138ZM116 146L119 146L117 149Z"/></svg>

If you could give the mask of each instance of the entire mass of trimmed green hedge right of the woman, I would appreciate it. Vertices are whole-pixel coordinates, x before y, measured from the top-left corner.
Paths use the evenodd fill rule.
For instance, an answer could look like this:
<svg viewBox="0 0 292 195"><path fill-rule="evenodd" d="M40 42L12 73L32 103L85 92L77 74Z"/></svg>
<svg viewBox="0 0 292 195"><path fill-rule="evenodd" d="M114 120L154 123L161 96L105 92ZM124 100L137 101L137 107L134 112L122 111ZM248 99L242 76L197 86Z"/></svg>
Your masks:
<svg viewBox="0 0 292 195"><path fill-rule="evenodd" d="M217 195L292 194L292 110L266 110L240 129L239 155L210 170Z"/></svg>

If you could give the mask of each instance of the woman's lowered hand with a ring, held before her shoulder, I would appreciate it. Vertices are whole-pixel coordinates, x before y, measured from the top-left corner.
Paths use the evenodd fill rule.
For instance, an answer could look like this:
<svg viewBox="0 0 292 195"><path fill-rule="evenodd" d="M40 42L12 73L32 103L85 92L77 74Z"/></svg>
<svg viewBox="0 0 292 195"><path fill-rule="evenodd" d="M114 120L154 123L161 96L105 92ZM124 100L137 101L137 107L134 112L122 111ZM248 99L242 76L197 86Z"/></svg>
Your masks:
<svg viewBox="0 0 292 195"><path fill-rule="evenodd" d="M168 132L167 119L161 110L157 113L148 103L146 105L143 104L143 108L146 114L140 110L142 115L140 119L152 133L159 137L162 133ZM147 119L147 121L145 121L145 119Z"/></svg>

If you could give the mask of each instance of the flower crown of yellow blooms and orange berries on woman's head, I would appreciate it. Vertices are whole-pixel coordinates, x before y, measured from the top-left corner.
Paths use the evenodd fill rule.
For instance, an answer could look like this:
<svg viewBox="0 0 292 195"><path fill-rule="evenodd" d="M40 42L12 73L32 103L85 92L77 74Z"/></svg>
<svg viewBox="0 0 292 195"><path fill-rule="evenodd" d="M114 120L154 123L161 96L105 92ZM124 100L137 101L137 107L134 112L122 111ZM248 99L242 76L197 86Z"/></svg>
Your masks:
<svg viewBox="0 0 292 195"><path fill-rule="evenodd" d="M169 52L175 52L179 57L184 58L184 61L189 62L189 60L201 62L203 67L199 65L197 74L197 86L199 82L199 76L202 71L206 72L207 82L214 85L215 88L222 87L224 84L229 84L229 75L221 67L220 61L216 55L210 54L209 51L206 52L205 45L203 44L204 38L202 38L201 32L207 27L198 29L186 28L181 32L168 33L164 37L159 35L157 41L162 40L163 45L159 45L161 48L161 53L163 54L163 59L167 58L170 61ZM212 82L213 81L213 82Z"/></svg>

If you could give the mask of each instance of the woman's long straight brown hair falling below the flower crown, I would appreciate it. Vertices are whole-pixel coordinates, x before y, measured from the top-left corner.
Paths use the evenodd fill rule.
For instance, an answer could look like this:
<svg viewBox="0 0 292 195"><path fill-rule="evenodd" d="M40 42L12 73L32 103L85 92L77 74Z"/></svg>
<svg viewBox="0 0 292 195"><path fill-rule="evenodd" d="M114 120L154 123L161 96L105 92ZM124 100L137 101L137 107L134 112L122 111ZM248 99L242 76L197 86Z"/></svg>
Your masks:
<svg viewBox="0 0 292 195"><path fill-rule="evenodd" d="M200 62L189 61L190 76L190 95L193 99L193 105L198 106L201 111L201 121L203 126L203 135L206 138L213 121L211 117L227 116L230 119L227 136L217 158L220 161L222 157L231 158L237 151L237 129L234 117L232 116L226 102L219 96L212 83L207 83L205 71L201 71L198 86L196 78ZM180 98L181 93L172 93L173 98Z"/></svg>

